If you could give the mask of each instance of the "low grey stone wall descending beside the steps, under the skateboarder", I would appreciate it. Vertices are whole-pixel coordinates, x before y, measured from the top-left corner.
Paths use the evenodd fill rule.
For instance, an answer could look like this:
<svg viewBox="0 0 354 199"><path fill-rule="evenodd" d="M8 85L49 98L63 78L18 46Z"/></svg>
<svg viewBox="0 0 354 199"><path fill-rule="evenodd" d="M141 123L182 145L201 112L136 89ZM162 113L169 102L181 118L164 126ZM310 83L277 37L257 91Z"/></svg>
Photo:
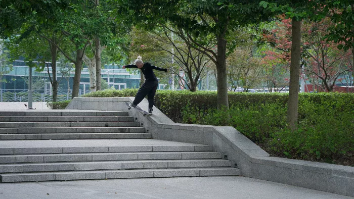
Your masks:
<svg viewBox="0 0 354 199"><path fill-rule="evenodd" d="M212 145L241 169L242 176L354 196L354 167L270 157L233 127L174 123L157 108L153 115L144 117L136 110L127 110L125 102L133 100L75 97L66 109L127 111L154 139ZM147 100L139 107L148 110Z"/></svg>

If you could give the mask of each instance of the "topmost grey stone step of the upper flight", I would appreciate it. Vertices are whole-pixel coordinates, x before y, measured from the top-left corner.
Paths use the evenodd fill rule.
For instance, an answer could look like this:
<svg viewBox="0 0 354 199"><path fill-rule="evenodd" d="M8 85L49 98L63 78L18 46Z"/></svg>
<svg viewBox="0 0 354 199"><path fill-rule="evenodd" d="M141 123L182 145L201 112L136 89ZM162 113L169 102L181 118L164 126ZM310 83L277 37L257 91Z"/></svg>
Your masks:
<svg viewBox="0 0 354 199"><path fill-rule="evenodd" d="M128 116L128 112L121 111L2 111L0 116Z"/></svg>

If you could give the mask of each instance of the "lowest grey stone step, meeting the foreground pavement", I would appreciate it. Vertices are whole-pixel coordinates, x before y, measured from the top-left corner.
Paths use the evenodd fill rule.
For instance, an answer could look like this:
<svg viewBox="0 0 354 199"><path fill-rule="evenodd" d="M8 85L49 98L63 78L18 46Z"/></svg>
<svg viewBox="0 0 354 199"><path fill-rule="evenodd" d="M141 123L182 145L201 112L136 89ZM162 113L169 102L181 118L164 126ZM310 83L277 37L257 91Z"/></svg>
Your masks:
<svg viewBox="0 0 354 199"><path fill-rule="evenodd" d="M99 170L73 172L41 172L1 174L2 182L33 182L53 180L87 180L152 177L191 177L240 175L240 170L231 167L220 168L179 168L179 169L134 169L134 170Z"/></svg>

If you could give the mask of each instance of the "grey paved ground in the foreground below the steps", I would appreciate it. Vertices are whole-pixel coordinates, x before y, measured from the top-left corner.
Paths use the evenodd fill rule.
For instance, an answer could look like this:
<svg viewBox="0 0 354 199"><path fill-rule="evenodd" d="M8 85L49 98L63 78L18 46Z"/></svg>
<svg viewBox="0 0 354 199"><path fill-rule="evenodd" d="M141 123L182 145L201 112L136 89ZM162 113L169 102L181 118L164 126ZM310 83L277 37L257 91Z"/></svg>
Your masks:
<svg viewBox="0 0 354 199"><path fill-rule="evenodd" d="M0 183L0 198L352 198L234 177L143 178Z"/></svg>

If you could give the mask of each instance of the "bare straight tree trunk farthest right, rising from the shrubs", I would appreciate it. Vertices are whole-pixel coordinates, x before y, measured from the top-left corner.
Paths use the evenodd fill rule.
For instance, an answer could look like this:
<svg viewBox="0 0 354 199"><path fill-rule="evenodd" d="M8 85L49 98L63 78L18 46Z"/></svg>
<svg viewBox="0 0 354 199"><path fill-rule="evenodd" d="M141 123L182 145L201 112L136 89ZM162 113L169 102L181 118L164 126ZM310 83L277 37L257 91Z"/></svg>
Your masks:
<svg viewBox="0 0 354 199"><path fill-rule="evenodd" d="M297 112L299 98L299 75L300 75L300 42L301 21L291 20L291 63L290 84L288 101L288 124L292 131L297 130Z"/></svg>

